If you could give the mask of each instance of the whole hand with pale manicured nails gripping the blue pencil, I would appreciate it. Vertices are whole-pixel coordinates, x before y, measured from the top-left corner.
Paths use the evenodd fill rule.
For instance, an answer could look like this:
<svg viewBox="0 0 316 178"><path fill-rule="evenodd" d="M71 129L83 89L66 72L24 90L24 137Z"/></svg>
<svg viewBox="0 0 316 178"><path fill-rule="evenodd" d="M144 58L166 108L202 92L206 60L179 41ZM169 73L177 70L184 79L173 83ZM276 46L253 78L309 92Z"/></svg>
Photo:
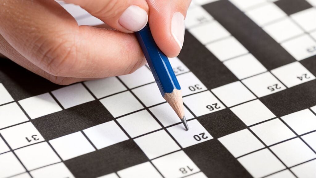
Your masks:
<svg viewBox="0 0 316 178"><path fill-rule="evenodd" d="M129 74L143 66L132 33L147 21L158 47L169 57L177 56L191 0L65 2L80 5L113 29L78 26L53 0L0 0L0 53L61 85Z"/></svg>

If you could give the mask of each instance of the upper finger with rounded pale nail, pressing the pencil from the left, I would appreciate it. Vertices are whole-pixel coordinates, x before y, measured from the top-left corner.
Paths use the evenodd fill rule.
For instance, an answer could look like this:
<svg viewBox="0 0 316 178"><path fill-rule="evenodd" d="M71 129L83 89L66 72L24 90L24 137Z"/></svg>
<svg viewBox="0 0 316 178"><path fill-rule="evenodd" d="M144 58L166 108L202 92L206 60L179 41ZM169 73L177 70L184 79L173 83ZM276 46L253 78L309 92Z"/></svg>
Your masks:
<svg viewBox="0 0 316 178"><path fill-rule="evenodd" d="M143 29L148 22L146 0L64 0L87 10L112 28L125 33Z"/></svg>

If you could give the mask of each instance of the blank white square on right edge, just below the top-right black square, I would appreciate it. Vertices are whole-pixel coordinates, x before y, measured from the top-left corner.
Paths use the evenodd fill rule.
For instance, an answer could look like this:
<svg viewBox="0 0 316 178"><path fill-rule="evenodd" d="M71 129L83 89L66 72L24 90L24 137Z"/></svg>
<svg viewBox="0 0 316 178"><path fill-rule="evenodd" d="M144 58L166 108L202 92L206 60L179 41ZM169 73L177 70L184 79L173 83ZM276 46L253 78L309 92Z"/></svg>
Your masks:
<svg viewBox="0 0 316 178"><path fill-rule="evenodd" d="M291 18L307 32L312 31L316 28L315 27L315 22L316 22L315 7L292 14Z"/></svg>

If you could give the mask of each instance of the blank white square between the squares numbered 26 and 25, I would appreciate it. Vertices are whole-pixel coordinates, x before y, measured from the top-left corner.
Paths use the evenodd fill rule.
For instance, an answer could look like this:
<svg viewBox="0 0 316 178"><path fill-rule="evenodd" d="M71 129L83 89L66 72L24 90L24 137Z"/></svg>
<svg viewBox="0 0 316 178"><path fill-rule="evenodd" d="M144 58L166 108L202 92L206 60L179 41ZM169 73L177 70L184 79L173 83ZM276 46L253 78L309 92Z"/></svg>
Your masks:
<svg viewBox="0 0 316 178"><path fill-rule="evenodd" d="M211 91L224 102L227 107L256 99L240 81L214 88Z"/></svg>

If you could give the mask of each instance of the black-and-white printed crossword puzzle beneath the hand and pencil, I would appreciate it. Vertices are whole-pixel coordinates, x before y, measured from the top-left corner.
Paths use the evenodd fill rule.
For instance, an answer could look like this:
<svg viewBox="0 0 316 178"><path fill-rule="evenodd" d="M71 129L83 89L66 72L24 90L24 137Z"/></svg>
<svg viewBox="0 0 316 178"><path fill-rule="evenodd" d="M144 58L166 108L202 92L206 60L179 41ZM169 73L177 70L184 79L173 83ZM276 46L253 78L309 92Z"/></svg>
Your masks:
<svg viewBox="0 0 316 178"><path fill-rule="evenodd" d="M79 25L100 25L59 2ZM0 61L0 178L314 178L315 0L192 0L170 63L70 86Z"/></svg>

